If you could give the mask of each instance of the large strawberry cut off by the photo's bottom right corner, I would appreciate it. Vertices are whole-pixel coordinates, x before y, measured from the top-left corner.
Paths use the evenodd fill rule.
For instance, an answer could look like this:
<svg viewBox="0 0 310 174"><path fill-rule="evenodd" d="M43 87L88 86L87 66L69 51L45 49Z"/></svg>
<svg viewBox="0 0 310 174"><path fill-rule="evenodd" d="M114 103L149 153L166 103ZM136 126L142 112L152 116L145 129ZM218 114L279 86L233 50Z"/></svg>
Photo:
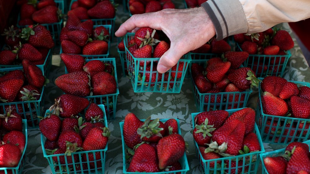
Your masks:
<svg viewBox="0 0 310 174"><path fill-rule="evenodd" d="M296 147L290 161L287 163L286 173L292 174L304 170L310 173L309 152L303 147Z"/></svg>

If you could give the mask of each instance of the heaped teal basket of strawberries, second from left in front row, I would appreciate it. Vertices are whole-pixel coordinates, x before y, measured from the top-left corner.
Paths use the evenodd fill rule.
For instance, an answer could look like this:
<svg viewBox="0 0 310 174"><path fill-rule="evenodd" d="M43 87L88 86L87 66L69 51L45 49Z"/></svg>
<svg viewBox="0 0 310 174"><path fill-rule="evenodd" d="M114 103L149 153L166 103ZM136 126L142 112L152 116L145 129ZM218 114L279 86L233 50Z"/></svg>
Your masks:
<svg viewBox="0 0 310 174"><path fill-rule="evenodd" d="M62 105L47 110L39 125L43 155L53 174L103 174L110 136L104 105L91 104L80 116L89 104L86 99L65 94L59 101Z"/></svg>

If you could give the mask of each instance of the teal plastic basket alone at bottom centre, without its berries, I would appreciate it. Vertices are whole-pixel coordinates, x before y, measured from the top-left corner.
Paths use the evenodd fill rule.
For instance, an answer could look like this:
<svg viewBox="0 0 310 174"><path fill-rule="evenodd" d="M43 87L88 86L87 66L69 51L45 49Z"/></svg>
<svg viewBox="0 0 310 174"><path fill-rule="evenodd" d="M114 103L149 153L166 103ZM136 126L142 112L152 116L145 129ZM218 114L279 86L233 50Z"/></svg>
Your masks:
<svg viewBox="0 0 310 174"><path fill-rule="evenodd" d="M159 119L159 121L165 123L169 119ZM178 134L181 135L181 129L180 129L180 123L179 119L175 119L178 122ZM145 121L145 120L141 120ZM128 149L129 147L126 146L125 140L124 140L124 134L123 134L123 128L124 128L124 122L120 122L119 126L121 127L121 136L122 136L122 148L123 148L123 173L124 174L139 174L141 172L127 172L127 168L129 167L129 164L126 163L126 152L125 149ZM165 172L143 172L148 174L185 174L187 171L189 171L188 161L186 157L186 152L184 152L184 155L181 159L179 159L179 163L181 164L182 169L176 170L176 171L165 171Z"/></svg>

